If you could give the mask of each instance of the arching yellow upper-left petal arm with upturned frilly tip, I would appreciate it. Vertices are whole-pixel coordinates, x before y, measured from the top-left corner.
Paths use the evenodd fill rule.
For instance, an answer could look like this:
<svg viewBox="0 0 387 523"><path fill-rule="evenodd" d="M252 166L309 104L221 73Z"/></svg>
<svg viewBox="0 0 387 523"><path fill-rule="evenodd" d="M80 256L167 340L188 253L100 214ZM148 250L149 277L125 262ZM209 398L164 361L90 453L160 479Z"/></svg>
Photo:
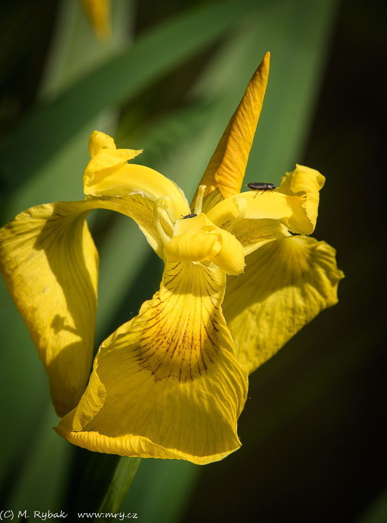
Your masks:
<svg viewBox="0 0 387 523"><path fill-rule="evenodd" d="M171 200L173 221L190 213L183 191L154 169L126 164L142 151L116 149L107 134L94 131L89 140L91 160L84 173L84 192L97 197L126 197L139 194L151 201L160 197Z"/></svg>

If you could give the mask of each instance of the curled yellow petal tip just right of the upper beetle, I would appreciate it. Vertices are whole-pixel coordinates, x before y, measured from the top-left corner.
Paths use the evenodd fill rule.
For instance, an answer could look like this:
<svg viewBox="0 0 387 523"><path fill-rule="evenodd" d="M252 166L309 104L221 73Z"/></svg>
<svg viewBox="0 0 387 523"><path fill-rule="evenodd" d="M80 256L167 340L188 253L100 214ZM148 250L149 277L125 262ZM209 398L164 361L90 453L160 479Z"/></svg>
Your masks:
<svg viewBox="0 0 387 523"><path fill-rule="evenodd" d="M296 169L283 176L279 191L292 197L294 208L289 219L283 223L293 232L311 234L316 226L319 209L319 191L325 178L318 170L296 164Z"/></svg>

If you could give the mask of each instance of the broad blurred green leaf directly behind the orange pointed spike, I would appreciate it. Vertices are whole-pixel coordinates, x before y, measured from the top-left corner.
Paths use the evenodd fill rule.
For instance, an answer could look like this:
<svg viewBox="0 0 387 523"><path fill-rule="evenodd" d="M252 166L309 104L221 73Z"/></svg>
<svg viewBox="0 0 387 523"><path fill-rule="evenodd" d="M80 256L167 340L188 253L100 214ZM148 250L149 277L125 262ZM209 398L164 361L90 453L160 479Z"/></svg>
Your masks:
<svg viewBox="0 0 387 523"><path fill-rule="evenodd" d="M336 7L336 0L263 3L248 19L236 21L184 105L139 129L119 125L121 145L144 147L136 161L174 179L189 197L250 77L264 53L271 51L271 71L246 178L279 183L302 154Z"/></svg>

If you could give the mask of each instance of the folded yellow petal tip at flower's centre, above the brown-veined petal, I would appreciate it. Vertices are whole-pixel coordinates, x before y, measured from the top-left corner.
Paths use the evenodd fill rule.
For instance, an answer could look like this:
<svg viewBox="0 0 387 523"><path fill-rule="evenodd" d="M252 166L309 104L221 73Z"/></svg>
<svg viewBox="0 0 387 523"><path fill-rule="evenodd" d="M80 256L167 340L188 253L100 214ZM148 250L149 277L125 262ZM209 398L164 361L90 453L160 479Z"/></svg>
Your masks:
<svg viewBox="0 0 387 523"><path fill-rule="evenodd" d="M204 213L176 222L174 237L164 245L164 255L170 261L213 263L227 274L240 274L244 268L240 242Z"/></svg>

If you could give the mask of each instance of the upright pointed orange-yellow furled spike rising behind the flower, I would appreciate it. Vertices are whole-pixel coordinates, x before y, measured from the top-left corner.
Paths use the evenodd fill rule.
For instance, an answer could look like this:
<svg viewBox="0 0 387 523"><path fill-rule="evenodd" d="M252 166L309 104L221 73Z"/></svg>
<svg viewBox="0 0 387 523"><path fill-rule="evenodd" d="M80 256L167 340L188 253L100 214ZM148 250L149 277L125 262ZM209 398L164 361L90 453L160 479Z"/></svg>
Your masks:
<svg viewBox="0 0 387 523"><path fill-rule="evenodd" d="M199 184L207 186L205 196L217 188L223 198L236 195L241 190L265 96L269 63L270 53L266 53L208 163ZM193 202L195 198L196 194ZM203 204L204 211L209 209L206 203Z"/></svg>

